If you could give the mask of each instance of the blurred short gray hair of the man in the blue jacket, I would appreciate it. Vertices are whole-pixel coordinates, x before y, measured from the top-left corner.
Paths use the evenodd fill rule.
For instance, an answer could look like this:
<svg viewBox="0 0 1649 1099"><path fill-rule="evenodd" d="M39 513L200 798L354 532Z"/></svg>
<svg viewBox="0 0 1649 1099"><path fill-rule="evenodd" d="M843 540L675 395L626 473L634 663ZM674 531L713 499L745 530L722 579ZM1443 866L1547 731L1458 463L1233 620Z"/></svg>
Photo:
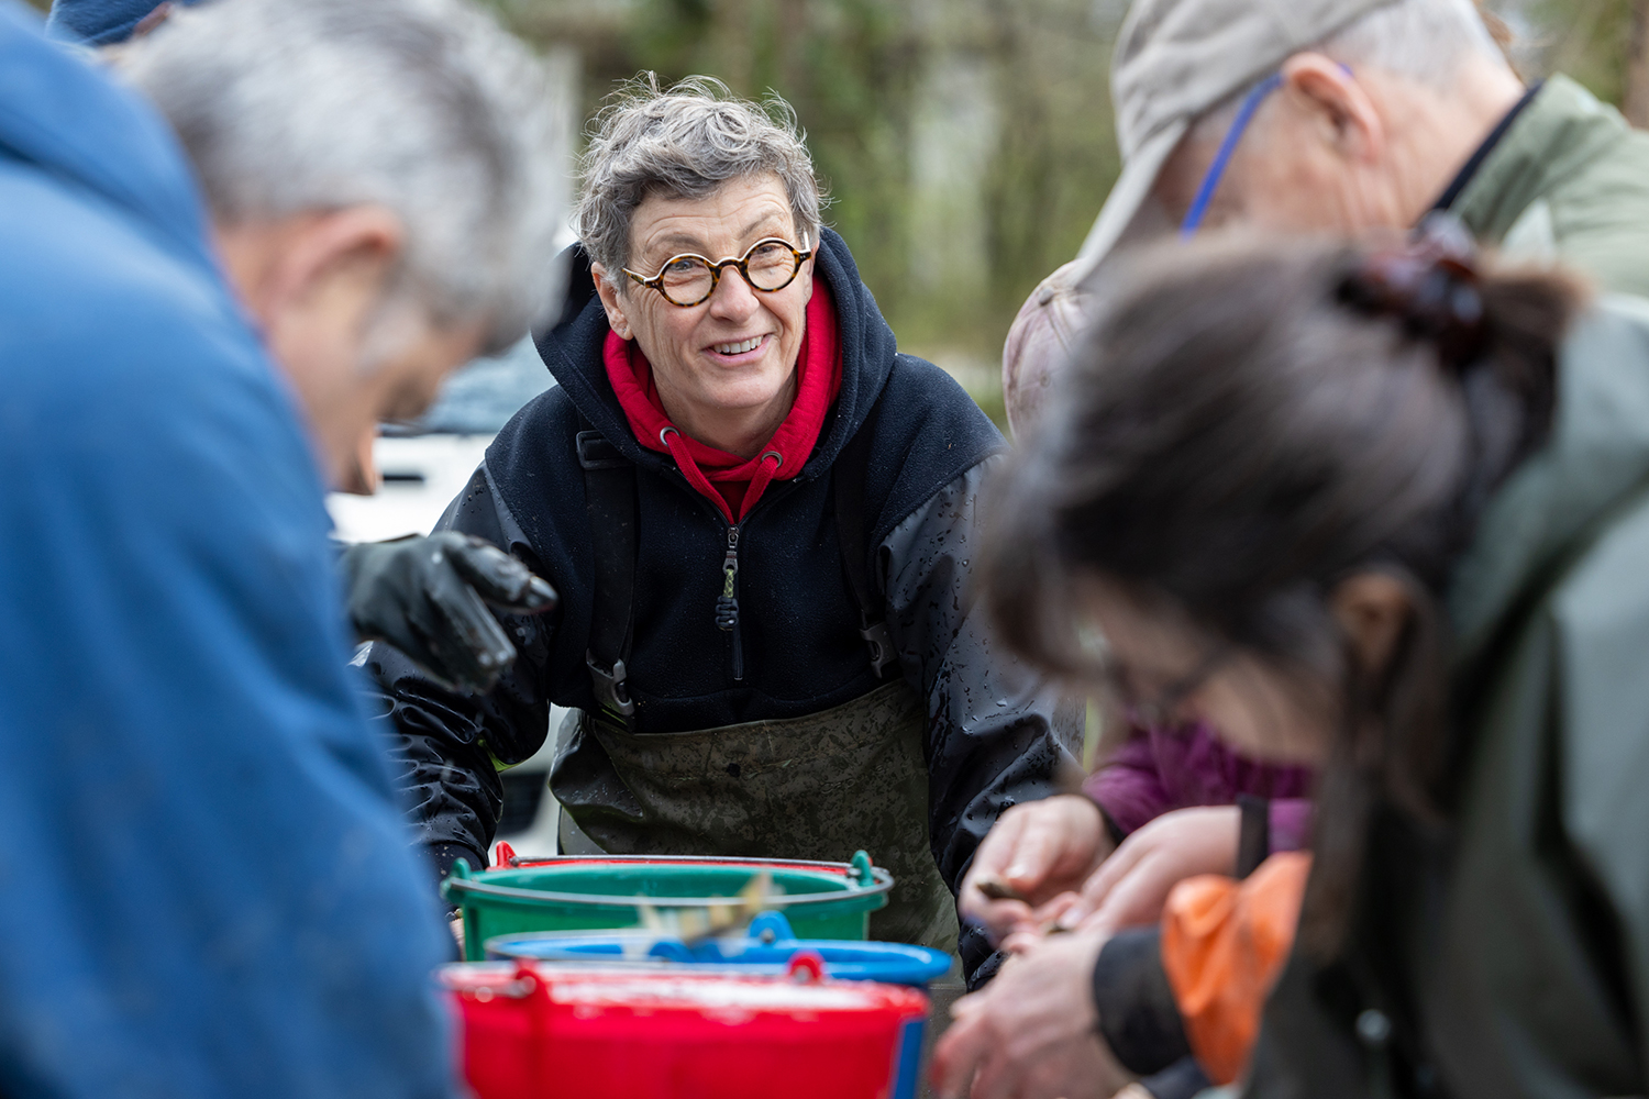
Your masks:
<svg viewBox="0 0 1649 1099"><path fill-rule="evenodd" d="M544 66L467 0L216 0L119 49L228 224L363 203L401 290L519 338L551 305L567 127Z"/></svg>

